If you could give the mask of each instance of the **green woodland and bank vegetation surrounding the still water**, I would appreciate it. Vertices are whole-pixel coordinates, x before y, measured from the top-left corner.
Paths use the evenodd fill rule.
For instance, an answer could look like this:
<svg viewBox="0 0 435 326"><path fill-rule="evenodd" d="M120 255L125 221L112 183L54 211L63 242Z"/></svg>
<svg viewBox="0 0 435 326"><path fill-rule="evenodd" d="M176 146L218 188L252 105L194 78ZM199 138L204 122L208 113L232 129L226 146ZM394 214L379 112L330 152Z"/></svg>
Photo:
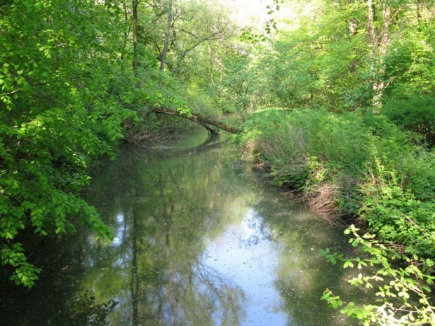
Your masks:
<svg viewBox="0 0 435 326"><path fill-rule="evenodd" d="M375 235L347 231L365 256L321 254L377 265L350 281L380 301L322 298L366 323L435 323L434 15L417 0L2 1L2 278L32 287L28 239L76 218L113 236L80 191L122 140L192 128L159 108L232 112L276 184Z"/></svg>

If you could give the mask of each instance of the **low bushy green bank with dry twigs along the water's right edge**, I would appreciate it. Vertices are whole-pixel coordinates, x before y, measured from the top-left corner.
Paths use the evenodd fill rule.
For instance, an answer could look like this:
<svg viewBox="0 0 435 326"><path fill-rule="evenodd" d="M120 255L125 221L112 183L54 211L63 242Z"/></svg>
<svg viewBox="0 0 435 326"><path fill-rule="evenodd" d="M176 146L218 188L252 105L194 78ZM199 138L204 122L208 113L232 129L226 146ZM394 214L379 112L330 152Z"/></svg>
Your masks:
<svg viewBox="0 0 435 326"><path fill-rule="evenodd" d="M381 115L269 109L248 117L241 142L276 185L300 191L333 222L374 233L433 275L435 156L421 137Z"/></svg>

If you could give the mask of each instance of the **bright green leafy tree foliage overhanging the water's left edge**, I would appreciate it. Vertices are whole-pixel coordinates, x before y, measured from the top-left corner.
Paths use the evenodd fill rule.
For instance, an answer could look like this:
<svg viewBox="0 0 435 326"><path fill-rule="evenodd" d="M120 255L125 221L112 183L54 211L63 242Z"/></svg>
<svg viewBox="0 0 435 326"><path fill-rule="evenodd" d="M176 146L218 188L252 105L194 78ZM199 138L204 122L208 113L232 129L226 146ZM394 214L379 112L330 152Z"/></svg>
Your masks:
<svg viewBox="0 0 435 326"><path fill-rule="evenodd" d="M11 279L34 285L22 230L74 230L72 215L111 236L78 193L88 158L113 156L131 117L110 93L122 76L117 8L94 1L8 1L0 8L1 261Z"/></svg>

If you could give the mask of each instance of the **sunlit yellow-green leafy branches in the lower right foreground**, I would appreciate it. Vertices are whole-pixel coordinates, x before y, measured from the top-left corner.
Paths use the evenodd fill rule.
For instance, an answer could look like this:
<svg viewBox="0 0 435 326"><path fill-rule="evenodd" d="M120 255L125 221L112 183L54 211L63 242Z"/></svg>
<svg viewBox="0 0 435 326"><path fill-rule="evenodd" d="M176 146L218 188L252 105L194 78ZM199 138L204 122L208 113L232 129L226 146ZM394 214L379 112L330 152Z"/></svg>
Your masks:
<svg viewBox="0 0 435 326"><path fill-rule="evenodd" d="M352 233L354 238L349 243L360 247L368 255L366 258L344 258L343 254L332 253L329 249L321 250L320 254L332 264L342 262L344 269L375 267L374 273L365 275L361 271L348 282L355 287L377 287L375 294L379 299L375 304L363 306L357 306L352 301L346 304L328 289L323 292L321 299L326 300L332 308L343 307L341 313L362 320L363 325L370 325L370 322L380 325L435 325L435 307L431 305L429 297L429 285L434 284L435 277L423 273L417 267L417 255L413 254L411 259L375 240L374 235L366 233L360 236L358 231L352 225L344 233Z"/></svg>

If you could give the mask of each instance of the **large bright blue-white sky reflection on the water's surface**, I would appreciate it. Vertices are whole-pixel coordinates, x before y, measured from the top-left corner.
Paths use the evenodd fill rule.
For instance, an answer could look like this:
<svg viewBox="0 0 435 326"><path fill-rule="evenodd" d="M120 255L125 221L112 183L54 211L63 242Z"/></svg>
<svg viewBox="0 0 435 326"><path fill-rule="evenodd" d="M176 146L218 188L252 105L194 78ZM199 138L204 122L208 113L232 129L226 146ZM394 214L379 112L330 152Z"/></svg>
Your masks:
<svg viewBox="0 0 435 326"><path fill-rule="evenodd" d="M274 287L279 247L272 243L262 217L250 209L240 223L230 224L210 241L203 264L243 290L241 325L287 325L279 291ZM215 320L220 325L219 320Z"/></svg>

